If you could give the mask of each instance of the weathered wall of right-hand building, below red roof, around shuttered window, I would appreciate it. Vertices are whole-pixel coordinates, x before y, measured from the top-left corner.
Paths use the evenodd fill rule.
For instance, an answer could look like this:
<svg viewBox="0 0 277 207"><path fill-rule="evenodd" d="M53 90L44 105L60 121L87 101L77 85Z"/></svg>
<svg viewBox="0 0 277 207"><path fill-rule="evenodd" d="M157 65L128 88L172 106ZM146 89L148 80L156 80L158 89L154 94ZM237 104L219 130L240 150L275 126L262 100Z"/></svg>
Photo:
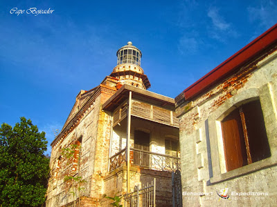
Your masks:
<svg viewBox="0 0 277 207"><path fill-rule="evenodd" d="M274 49L276 50L276 49ZM277 52L256 59L204 95L177 108L180 115L181 180L184 206L276 206L277 202ZM220 120L232 107L259 98L271 148L271 157L226 172ZM220 199L217 190L266 192L268 196L230 195ZM213 195L211 195L213 193Z"/></svg>

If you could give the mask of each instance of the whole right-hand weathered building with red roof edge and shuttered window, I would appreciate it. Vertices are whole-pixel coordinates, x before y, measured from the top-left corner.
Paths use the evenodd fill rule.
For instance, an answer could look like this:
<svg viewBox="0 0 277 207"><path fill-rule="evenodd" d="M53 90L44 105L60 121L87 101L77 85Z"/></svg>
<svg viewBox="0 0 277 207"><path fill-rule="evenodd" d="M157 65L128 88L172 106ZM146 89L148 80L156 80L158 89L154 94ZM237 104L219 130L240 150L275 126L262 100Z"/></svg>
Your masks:
<svg viewBox="0 0 277 207"><path fill-rule="evenodd" d="M175 98L184 206L276 206L276 49L277 25Z"/></svg>

